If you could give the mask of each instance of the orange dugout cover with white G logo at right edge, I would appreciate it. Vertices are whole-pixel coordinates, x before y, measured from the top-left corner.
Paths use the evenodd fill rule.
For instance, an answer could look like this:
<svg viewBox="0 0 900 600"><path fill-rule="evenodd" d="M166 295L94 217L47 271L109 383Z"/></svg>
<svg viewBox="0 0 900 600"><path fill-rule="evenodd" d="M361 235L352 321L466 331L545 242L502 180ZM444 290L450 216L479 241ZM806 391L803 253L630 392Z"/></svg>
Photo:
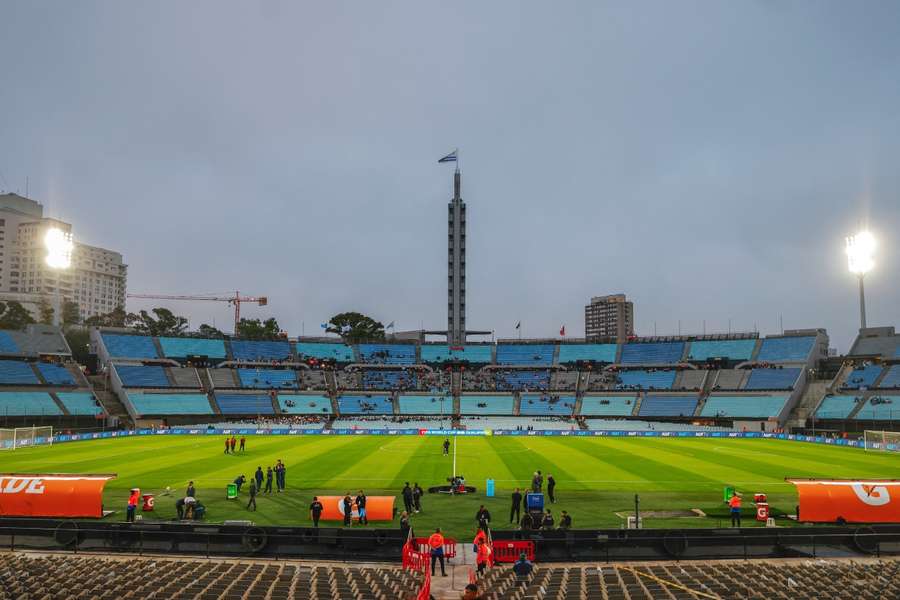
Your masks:
<svg viewBox="0 0 900 600"><path fill-rule="evenodd" d="M786 479L797 486L800 521L900 523L900 481Z"/></svg>

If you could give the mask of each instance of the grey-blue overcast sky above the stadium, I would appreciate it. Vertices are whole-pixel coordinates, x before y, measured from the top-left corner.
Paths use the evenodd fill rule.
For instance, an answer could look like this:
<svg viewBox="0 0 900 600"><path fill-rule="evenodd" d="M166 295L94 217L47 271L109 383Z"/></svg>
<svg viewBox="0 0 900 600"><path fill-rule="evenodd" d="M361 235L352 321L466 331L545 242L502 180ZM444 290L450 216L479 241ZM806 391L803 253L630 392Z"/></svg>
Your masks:
<svg viewBox="0 0 900 600"><path fill-rule="evenodd" d="M625 292L639 334L846 351L867 219L869 324L900 325L897 2L0 0L0 77L0 188L131 292L446 327L458 146L470 328L578 336Z"/></svg>

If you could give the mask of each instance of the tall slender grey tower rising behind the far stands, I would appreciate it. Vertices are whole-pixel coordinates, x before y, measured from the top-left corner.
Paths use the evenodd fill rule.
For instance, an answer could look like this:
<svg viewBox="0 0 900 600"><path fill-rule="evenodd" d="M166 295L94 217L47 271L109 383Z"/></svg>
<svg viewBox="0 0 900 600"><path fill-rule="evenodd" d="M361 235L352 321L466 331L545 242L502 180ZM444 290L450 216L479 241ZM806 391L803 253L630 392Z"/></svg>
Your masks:
<svg viewBox="0 0 900 600"><path fill-rule="evenodd" d="M453 200L449 212L447 236L447 342L466 343L466 203L459 194L459 167L453 172Z"/></svg>

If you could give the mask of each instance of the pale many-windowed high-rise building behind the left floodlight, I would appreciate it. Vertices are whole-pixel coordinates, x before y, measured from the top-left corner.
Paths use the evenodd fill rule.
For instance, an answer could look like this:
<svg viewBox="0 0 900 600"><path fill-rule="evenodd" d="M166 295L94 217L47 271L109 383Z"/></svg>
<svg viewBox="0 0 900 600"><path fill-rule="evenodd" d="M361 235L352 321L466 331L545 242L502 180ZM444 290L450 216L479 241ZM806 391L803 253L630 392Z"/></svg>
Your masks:
<svg viewBox="0 0 900 600"><path fill-rule="evenodd" d="M72 225L44 217L43 206L17 194L0 194L0 295L26 308L58 296L78 304L81 318L125 306L128 266L112 250L75 242L71 268L46 263L44 236L55 227L72 232Z"/></svg>

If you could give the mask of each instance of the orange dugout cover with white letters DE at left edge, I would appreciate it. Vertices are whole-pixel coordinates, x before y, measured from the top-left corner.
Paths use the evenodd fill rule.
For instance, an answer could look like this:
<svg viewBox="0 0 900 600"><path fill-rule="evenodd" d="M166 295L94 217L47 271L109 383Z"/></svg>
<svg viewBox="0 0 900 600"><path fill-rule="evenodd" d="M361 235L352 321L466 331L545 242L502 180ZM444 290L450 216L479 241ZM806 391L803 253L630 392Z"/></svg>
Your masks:
<svg viewBox="0 0 900 600"><path fill-rule="evenodd" d="M99 519L103 516L103 487L115 477L3 473L0 474L0 515Z"/></svg>

